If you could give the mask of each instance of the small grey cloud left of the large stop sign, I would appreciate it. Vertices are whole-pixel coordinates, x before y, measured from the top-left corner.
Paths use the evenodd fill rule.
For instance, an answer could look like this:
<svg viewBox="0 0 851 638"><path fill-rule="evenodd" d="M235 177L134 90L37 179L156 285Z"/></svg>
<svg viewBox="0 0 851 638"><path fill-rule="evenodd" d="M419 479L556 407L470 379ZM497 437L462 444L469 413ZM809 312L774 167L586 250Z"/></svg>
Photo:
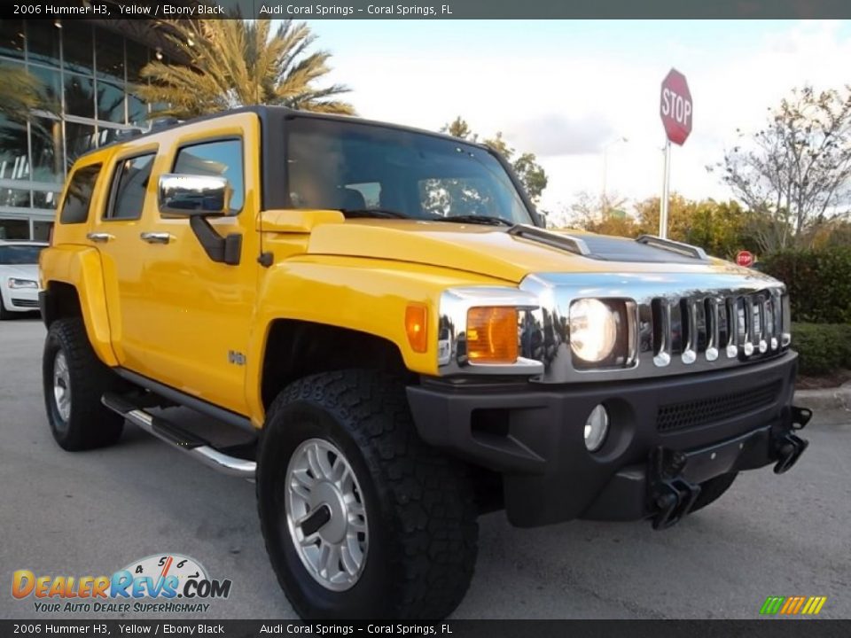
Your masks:
<svg viewBox="0 0 851 638"><path fill-rule="evenodd" d="M575 117L548 113L505 130L512 145L540 157L600 152L613 135L609 122L596 113Z"/></svg>

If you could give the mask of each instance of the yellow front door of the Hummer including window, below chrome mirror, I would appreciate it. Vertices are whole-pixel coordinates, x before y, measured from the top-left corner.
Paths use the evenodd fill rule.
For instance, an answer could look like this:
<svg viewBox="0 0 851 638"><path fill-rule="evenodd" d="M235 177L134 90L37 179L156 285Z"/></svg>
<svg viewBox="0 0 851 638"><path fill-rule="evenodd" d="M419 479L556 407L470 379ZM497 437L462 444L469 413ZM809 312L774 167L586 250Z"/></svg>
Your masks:
<svg viewBox="0 0 851 638"><path fill-rule="evenodd" d="M235 116L240 121L248 114ZM210 219L223 237L242 236L240 261L212 260L191 230L187 217L155 210L143 238L142 304L147 331L144 365L137 370L183 393L247 414L246 353L252 332L257 285L258 236L254 217L260 202L246 188L258 160L246 165L245 144L254 126L239 126L215 139L181 137L163 172L223 175L232 188L231 214ZM178 129L179 130L179 129ZM188 139L187 139L188 137ZM253 140L256 142L256 140Z"/></svg>

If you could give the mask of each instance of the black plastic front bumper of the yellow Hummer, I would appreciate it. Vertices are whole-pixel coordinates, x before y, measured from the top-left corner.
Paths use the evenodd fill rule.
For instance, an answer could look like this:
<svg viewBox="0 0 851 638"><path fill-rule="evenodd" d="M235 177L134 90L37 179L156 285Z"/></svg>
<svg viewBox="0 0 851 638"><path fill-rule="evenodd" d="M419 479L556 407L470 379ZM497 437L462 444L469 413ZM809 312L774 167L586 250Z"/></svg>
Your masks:
<svg viewBox="0 0 851 638"><path fill-rule="evenodd" d="M504 476L505 510L519 526L571 518L675 522L697 487L731 471L777 463L785 471L806 442L792 408L797 354L707 374L621 384L410 386L420 436ZM604 446L589 453L583 428L604 404ZM799 422L799 426L793 424ZM791 437L791 438L790 438ZM800 441L800 443L799 443Z"/></svg>

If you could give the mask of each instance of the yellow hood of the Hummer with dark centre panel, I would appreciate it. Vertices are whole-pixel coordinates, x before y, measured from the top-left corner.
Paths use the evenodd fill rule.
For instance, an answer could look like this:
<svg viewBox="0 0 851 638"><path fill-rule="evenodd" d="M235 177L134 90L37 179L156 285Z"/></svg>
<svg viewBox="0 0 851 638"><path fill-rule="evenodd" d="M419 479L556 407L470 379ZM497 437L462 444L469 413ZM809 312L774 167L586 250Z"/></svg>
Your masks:
<svg viewBox="0 0 851 638"><path fill-rule="evenodd" d="M699 259L622 237L551 231L556 241L509 233L508 227L413 220L347 220L317 226L308 253L344 255L440 266L519 283L530 273L694 273L770 277L714 258ZM540 233L535 232L535 235ZM558 239L582 239L576 254Z"/></svg>

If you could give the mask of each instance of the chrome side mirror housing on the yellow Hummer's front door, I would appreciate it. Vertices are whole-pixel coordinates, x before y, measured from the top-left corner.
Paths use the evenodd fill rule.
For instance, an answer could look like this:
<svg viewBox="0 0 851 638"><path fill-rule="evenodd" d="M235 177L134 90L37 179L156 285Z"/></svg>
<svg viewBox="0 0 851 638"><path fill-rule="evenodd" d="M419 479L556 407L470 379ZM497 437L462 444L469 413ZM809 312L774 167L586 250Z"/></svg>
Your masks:
<svg viewBox="0 0 851 638"><path fill-rule="evenodd" d="M157 202L160 213L187 217L230 214L233 189L219 175L160 175Z"/></svg>

